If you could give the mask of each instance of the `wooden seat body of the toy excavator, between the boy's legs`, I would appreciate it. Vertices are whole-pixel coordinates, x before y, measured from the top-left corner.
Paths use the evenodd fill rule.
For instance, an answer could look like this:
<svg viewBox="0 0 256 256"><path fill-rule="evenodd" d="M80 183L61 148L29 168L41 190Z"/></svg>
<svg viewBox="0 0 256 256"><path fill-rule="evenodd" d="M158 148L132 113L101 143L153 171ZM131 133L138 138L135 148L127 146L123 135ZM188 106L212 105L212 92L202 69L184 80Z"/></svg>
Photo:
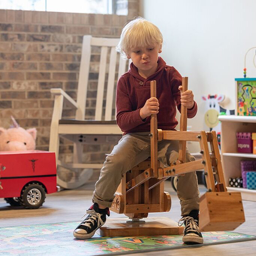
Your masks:
<svg viewBox="0 0 256 256"><path fill-rule="evenodd" d="M111 210L124 213L136 222L146 218L149 212L168 212L171 209L171 197L163 191L163 179L152 178L150 166L149 158L123 175ZM158 161L158 168L163 167L163 163Z"/></svg>

